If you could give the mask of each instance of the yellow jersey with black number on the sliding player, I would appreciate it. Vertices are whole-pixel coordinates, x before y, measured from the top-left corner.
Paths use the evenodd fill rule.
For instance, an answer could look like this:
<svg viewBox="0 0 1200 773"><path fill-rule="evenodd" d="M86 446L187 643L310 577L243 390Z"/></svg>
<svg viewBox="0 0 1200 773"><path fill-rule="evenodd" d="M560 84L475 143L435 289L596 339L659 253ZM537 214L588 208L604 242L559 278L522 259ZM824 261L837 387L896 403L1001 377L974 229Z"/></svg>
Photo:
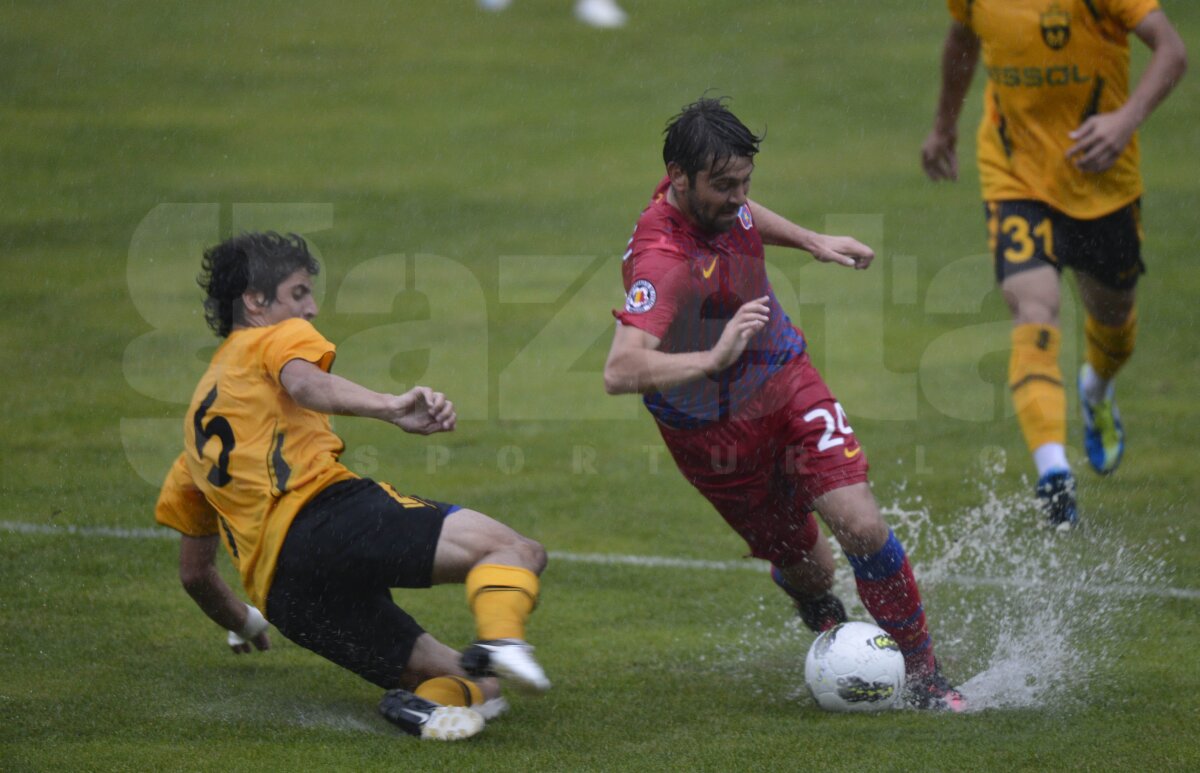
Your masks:
<svg viewBox="0 0 1200 773"><path fill-rule="evenodd" d="M184 453L155 505L164 526L191 537L220 534L264 612L296 513L330 484L358 477L337 461L344 445L329 417L300 407L280 383L289 361L328 371L335 354L305 319L230 332L192 395Z"/></svg>

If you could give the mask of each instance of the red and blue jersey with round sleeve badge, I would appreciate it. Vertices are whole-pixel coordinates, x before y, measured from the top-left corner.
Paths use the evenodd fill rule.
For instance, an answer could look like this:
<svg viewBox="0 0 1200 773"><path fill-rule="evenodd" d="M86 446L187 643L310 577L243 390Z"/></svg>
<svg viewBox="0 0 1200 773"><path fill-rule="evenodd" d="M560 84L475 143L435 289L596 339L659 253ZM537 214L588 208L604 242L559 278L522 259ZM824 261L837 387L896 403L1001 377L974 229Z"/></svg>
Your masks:
<svg viewBox="0 0 1200 773"><path fill-rule="evenodd" d="M784 313L767 278L762 236L743 206L728 232L710 234L667 202L668 180L654 191L622 259L625 307L613 311L661 341L670 354L712 349L733 313L770 298L770 319L742 356L708 378L644 396L662 424L700 427L736 415L788 361L804 353L804 335Z"/></svg>

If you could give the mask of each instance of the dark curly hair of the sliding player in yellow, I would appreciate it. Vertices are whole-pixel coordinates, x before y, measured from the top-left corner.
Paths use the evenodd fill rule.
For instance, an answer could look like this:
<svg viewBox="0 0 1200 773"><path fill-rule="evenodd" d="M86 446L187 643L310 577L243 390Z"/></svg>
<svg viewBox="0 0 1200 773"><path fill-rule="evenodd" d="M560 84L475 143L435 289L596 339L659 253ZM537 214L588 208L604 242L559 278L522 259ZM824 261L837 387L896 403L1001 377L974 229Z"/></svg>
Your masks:
<svg viewBox="0 0 1200 773"><path fill-rule="evenodd" d="M209 247L196 277L206 294L205 322L217 336L227 337L245 319L242 293L263 293L272 304L280 283L296 269L305 269L310 276L320 272L317 258L296 234L244 233Z"/></svg>

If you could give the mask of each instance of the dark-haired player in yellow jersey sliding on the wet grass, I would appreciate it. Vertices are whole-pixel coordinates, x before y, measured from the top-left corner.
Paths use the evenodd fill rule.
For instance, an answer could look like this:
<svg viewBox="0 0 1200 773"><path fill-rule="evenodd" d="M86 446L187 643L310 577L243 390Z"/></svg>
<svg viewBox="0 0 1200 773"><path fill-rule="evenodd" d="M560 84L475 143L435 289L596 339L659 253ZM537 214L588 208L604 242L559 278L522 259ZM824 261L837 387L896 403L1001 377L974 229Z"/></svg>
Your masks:
<svg viewBox="0 0 1200 773"><path fill-rule="evenodd" d="M196 388L155 517L180 532L180 580L229 630L234 652L268 649L270 621L386 690L383 715L422 738L482 730L505 706L496 676L548 689L524 642L542 546L338 461L330 414L431 435L455 429L454 405L427 386L388 395L330 372L336 349L312 325L319 266L300 236L242 234L206 251L203 270L205 317L223 342ZM217 573L217 543L253 606ZM446 582L466 583L479 633L461 655L391 600L394 587Z"/></svg>

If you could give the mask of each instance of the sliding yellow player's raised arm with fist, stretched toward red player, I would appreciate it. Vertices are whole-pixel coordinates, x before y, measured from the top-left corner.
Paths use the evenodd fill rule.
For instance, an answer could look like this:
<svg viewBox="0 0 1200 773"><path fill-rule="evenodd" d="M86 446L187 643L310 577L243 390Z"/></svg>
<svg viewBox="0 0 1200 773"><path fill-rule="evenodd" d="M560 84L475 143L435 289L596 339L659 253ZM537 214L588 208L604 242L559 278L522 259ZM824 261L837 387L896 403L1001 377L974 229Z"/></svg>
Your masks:
<svg viewBox="0 0 1200 773"><path fill-rule="evenodd" d="M428 386L414 386L403 395L388 395L326 373L307 360L292 360L284 365L280 371L280 383L296 403L310 411L379 419L415 435L450 432L457 420L454 403Z"/></svg>

